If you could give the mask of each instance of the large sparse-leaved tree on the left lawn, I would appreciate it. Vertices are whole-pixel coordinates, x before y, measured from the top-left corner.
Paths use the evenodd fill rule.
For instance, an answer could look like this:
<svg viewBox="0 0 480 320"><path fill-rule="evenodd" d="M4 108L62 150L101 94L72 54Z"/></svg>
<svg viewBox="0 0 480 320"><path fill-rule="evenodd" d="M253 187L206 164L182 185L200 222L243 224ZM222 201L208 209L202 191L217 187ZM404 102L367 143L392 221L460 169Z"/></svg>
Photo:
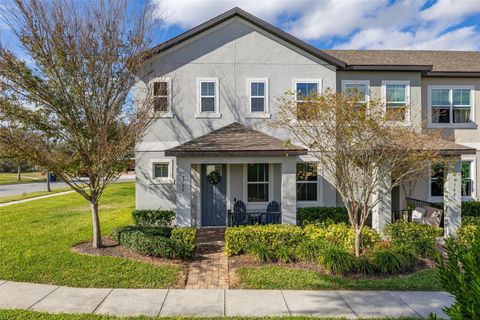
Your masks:
<svg viewBox="0 0 480 320"><path fill-rule="evenodd" d="M159 20L127 0L13 2L3 17L28 58L0 49L0 140L89 201L101 247L100 197L152 119L131 91Z"/></svg>

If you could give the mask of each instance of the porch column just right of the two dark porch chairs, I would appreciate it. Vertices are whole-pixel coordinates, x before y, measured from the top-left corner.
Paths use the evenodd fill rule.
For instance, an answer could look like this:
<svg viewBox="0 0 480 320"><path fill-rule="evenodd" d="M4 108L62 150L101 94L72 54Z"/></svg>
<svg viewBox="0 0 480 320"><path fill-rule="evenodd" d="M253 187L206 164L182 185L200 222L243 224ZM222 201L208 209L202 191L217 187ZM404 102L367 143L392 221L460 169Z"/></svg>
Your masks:
<svg viewBox="0 0 480 320"><path fill-rule="evenodd" d="M282 161L282 223L297 223L297 161L288 157Z"/></svg>

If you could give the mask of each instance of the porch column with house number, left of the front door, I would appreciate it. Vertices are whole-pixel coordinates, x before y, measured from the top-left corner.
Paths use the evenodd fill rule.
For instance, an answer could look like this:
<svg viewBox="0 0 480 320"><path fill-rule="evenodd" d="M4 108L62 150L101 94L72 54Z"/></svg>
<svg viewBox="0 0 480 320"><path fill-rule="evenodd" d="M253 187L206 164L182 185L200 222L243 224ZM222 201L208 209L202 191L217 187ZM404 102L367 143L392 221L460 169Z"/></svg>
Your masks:
<svg viewBox="0 0 480 320"><path fill-rule="evenodd" d="M192 226L192 165L190 161L177 158L177 225L179 227Z"/></svg>

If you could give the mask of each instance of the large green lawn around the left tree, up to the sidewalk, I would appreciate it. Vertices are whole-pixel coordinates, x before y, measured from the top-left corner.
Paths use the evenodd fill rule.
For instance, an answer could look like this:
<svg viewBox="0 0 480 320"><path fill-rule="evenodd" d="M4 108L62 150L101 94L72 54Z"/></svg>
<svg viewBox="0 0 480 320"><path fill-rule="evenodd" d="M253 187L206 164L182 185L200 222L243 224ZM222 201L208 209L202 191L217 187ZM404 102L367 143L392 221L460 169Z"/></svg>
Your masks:
<svg viewBox="0 0 480 320"><path fill-rule="evenodd" d="M134 183L118 183L101 200L103 234L131 223ZM74 287L164 288L176 283L177 266L71 251L92 237L89 205L78 194L0 208L0 279Z"/></svg>

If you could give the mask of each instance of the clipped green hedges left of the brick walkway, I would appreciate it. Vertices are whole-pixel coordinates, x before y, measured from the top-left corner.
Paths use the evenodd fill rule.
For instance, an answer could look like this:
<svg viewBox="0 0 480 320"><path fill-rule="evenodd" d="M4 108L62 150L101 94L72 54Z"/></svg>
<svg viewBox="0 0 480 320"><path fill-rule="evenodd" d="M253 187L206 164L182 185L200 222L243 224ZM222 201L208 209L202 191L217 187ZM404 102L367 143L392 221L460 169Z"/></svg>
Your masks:
<svg viewBox="0 0 480 320"><path fill-rule="evenodd" d="M168 211L134 211L133 216L136 225L113 230L112 237L119 244L154 257L188 259L194 256L195 228L170 227L173 217Z"/></svg>

